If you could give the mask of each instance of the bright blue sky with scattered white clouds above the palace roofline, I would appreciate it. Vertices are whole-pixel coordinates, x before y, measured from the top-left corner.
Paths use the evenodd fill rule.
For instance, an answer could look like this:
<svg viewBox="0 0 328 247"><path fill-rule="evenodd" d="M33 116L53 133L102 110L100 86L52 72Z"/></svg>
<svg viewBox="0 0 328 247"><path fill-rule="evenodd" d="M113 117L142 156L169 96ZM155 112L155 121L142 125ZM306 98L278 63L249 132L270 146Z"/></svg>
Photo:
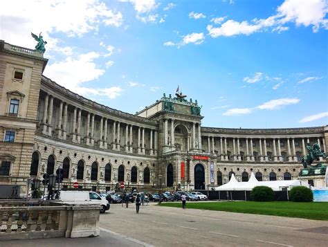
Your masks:
<svg viewBox="0 0 328 247"><path fill-rule="evenodd" d="M325 0L12 0L0 39L33 48L42 31L44 75L121 111L179 85L203 126L322 126L327 11Z"/></svg>

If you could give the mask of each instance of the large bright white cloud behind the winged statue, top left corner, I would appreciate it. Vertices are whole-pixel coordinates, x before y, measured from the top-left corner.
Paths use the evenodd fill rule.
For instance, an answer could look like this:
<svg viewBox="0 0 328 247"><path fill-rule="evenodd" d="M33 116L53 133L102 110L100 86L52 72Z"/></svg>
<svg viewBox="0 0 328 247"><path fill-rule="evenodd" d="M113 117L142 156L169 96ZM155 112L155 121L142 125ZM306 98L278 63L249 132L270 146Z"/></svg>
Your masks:
<svg viewBox="0 0 328 247"><path fill-rule="evenodd" d="M80 0L78 4L64 0L12 0L10 4L1 4L0 16L0 37L6 42L31 48L35 46L31 31L39 34L42 30L44 39L51 42L51 33L82 36L98 30L102 24L122 24L122 13L110 10L98 0Z"/></svg>

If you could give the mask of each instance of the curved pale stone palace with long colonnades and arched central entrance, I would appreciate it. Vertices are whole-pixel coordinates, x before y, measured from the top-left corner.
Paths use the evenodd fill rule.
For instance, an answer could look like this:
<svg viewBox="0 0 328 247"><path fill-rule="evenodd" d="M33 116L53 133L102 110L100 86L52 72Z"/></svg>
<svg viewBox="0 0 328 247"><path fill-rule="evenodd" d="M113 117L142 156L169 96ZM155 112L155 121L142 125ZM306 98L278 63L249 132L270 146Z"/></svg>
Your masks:
<svg viewBox="0 0 328 247"><path fill-rule="evenodd" d="M0 40L0 184L21 185L63 169L64 187L212 189L232 174L297 179L306 145L327 153L328 126L203 127L201 108L163 95L136 114L111 109L42 75L43 53Z"/></svg>

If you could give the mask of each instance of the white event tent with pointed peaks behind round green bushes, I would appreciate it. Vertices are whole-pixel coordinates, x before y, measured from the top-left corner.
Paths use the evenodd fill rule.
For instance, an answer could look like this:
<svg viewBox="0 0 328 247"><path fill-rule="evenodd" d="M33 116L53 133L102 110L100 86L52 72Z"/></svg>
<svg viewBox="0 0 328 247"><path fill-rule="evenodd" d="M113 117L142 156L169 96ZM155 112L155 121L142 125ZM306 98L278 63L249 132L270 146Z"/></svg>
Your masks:
<svg viewBox="0 0 328 247"><path fill-rule="evenodd" d="M253 187L256 186L268 186L271 187L272 190L282 190L287 189L290 190L293 186L303 185L299 180L282 180L282 181L257 181L254 173L250 174L250 179L247 182L238 182L233 174L228 183L217 187L215 190L239 190L239 191L248 191L253 190Z"/></svg>

